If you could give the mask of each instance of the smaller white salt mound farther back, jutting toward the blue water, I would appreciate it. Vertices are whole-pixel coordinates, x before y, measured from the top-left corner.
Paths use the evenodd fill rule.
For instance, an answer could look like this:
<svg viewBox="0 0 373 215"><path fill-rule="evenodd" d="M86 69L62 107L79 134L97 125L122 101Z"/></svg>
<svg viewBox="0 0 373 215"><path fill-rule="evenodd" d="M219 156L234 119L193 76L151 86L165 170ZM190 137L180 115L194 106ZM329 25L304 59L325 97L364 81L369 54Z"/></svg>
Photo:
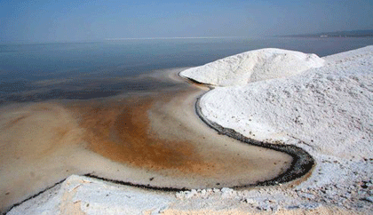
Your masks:
<svg viewBox="0 0 373 215"><path fill-rule="evenodd" d="M315 54L281 49L243 52L180 73L202 84L242 85L266 79L293 76L309 68L320 68L324 60Z"/></svg>

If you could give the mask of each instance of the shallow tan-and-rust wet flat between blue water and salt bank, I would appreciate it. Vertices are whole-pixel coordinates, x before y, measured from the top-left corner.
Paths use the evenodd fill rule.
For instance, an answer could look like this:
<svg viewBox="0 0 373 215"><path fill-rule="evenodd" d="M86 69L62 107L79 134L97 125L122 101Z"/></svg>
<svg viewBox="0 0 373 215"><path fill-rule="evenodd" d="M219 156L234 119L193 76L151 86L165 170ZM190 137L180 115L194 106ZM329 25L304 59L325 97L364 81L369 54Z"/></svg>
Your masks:
<svg viewBox="0 0 373 215"><path fill-rule="evenodd" d="M253 185L290 167L290 155L218 135L195 114L204 90L172 82L178 87L3 106L2 208L71 174L181 189Z"/></svg>

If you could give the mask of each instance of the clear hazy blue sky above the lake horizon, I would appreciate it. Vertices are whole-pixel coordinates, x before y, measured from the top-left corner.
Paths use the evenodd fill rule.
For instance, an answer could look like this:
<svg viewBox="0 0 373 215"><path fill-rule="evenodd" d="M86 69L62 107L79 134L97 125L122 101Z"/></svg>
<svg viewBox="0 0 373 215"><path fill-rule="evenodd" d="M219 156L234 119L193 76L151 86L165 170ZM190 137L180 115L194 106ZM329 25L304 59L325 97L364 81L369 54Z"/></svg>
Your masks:
<svg viewBox="0 0 373 215"><path fill-rule="evenodd" d="M0 43L355 29L373 29L373 0L0 0Z"/></svg>

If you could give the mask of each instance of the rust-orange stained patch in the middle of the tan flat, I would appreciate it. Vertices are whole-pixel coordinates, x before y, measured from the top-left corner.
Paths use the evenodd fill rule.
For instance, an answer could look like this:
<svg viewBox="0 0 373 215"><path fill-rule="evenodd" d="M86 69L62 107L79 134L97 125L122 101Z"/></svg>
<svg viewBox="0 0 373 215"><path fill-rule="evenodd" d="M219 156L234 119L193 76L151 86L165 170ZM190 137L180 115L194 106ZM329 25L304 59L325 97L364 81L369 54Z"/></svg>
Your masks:
<svg viewBox="0 0 373 215"><path fill-rule="evenodd" d="M202 175L215 171L193 144L157 139L149 134L147 110L155 98L74 106L89 148L113 161L149 170L178 170Z"/></svg>

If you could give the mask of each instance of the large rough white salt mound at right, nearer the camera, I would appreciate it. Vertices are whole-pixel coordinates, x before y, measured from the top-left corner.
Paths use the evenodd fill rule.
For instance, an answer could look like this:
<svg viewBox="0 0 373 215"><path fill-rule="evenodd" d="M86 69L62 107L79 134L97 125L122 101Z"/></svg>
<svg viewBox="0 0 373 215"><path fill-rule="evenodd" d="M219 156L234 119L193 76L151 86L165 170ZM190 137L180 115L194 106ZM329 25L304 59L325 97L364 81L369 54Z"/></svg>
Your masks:
<svg viewBox="0 0 373 215"><path fill-rule="evenodd" d="M214 89L202 96L202 115L252 139L373 157L373 46L323 60L298 76Z"/></svg>

